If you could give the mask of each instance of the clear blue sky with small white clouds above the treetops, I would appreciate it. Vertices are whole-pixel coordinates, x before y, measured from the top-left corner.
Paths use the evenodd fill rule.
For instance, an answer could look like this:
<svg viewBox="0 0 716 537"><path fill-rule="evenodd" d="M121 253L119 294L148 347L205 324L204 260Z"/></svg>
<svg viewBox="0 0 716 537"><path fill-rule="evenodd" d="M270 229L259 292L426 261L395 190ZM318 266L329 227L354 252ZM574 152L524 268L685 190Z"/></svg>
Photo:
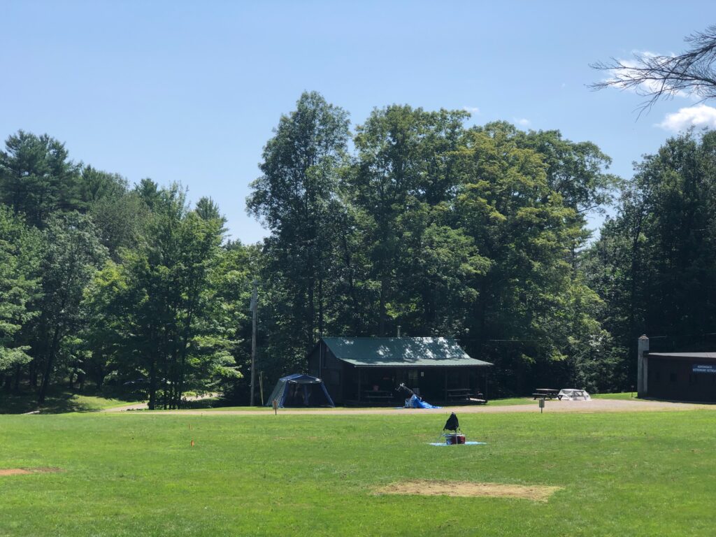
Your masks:
<svg viewBox="0 0 716 537"><path fill-rule="evenodd" d="M1 137L47 132L132 183L180 181L244 242L266 234L244 210L262 147L306 89L354 125L407 103L558 129L625 177L679 129L716 126L688 97L637 118L637 95L586 88L590 62L682 51L712 1L0 0L0 21Z"/></svg>

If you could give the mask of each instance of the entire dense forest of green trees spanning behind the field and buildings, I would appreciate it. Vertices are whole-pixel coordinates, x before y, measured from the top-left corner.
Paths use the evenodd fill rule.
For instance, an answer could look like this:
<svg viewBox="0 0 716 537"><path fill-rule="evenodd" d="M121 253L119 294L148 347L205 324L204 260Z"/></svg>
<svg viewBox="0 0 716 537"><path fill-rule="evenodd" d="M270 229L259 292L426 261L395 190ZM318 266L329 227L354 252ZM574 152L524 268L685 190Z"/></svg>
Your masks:
<svg viewBox="0 0 716 537"><path fill-rule="evenodd" d="M202 391L248 403L253 280L270 383L305 370L321 334L398 326L494 362L500 395L629 390L643 333L716 344L715 133L667 140L627 179L594 143L468 118L391 105L351 129L301 95L251 183L267 236L250 245L182 185L130 185L49 135L10 135L0 397L62 386L152 408ZM595 236L587 219L607 208Z"/></svg>

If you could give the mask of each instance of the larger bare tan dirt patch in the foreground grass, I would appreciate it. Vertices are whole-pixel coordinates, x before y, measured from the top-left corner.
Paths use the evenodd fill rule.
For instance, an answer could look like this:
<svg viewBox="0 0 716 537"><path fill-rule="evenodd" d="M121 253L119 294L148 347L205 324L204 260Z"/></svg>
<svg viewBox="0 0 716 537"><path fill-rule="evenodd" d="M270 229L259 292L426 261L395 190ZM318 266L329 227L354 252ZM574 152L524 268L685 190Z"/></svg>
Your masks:
<svg viewBox="0 0 716 537"><path fill-rule="evenodd" d="M546 502L562 487L548 485L505 485L503 483L470 483L466 481L404 481L377 490L379 494L412 494L422 496L490 496L523 498Z"/></svg>

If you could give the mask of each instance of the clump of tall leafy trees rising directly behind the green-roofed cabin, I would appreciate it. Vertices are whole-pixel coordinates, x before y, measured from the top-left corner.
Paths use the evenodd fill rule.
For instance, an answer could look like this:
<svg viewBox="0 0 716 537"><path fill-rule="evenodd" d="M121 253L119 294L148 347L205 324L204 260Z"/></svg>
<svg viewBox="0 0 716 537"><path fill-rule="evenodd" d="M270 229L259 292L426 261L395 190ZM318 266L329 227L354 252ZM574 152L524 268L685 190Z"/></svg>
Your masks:
<svg viewBox="0 0 716 537"><path fill-rule="evenodd" d="M576 266L585 214L618 184L604 172L609 158L557 131L468 129L465 112L400 105L358 125L346 158L344 137L326 134L339 114L302 96L266 145L248 198L271 231L262 326L283 369L270 369L304 369L319 334L400 325L406 335L458 337L498 362L498 382L516 392L539 375L609 385L614 375L586 365L610 363L611 339ZM319 174L305 155L321 162Z"/></svg>

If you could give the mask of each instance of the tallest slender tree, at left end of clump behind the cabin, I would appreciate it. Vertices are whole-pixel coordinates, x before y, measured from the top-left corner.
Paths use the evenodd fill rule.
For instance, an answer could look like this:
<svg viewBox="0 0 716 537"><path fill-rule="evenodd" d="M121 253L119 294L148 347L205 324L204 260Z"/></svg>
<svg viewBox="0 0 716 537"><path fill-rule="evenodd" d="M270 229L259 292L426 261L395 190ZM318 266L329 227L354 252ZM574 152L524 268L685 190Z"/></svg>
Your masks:
<svg viewBox="0 0 716 537"><path fill-rule="evenodd" d="M263 280L285 298L272 300L284 325L280 354L286 366L303 361L326 328L324 306L331 295L342 217L337 189L348 141L348 116L316 92L304 93L284 115L263 149L261 177L251 183L247 210L271 230Z"/></svg>

